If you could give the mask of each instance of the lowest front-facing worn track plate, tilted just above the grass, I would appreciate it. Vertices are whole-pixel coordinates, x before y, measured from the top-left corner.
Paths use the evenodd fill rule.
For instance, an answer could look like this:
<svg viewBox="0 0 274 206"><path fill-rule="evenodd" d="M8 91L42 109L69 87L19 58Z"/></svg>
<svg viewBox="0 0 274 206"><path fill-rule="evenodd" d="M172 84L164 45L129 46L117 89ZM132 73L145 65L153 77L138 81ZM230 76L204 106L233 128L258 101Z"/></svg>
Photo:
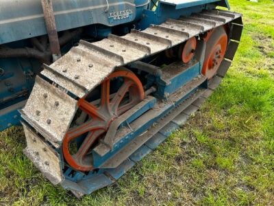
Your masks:
<svg viewBox="0 0 274 206"><path fill-rule="evenodd" d="M62 181L62 170L58 153L25 124L23 124L23 128L27 140L27 148L25 148L24 154L32 160L36 168L38 168L53 185L57 185Z"/></svg>

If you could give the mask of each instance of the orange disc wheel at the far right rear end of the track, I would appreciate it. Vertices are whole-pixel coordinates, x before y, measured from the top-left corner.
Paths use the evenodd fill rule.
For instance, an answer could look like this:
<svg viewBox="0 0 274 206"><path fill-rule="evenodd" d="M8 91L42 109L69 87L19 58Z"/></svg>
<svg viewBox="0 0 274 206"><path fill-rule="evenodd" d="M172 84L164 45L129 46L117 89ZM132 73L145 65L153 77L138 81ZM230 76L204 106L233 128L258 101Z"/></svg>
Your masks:
<svg viewBox="0 0 274 206"><path fill-rule="evenodd" d="M227 49L227 33L224 27L213 30L206 43L206 56L201 73L211 79L218 71Z"/></svg>

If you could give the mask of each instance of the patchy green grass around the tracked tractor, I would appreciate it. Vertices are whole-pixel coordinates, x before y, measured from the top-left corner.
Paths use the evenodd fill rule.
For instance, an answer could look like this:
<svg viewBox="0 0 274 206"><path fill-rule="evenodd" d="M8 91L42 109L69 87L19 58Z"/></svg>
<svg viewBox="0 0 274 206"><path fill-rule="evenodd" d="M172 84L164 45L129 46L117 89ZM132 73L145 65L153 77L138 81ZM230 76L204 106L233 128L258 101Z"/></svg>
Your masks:
<svg viewBox="0 0 274 206"><path fill-rule="evenodd" d="M230 1L245 30L221 87L114 185L78 200L0 133L0 205L274 205L274 3Z"/></svg>

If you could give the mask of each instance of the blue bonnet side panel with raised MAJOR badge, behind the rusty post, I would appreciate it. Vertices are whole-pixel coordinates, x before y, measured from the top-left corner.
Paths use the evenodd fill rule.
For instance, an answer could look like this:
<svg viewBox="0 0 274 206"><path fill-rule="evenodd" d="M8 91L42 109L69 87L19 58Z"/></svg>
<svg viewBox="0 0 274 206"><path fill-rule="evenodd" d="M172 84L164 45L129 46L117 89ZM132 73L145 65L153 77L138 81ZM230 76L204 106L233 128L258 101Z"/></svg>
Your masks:
<svg viewBox="0 0 274 206"><path fill-rule="evenodd" d="M136 6L142 10L146 3L149 1L108 0L108 8L105 0L55 0L53 10L57 30L63 31L95 23L108 26L129 23L136 19ZM126 12L126 15L121 16L119 12ZM0 45L47 34L40 1L0 1L0 28Z"/></svg>

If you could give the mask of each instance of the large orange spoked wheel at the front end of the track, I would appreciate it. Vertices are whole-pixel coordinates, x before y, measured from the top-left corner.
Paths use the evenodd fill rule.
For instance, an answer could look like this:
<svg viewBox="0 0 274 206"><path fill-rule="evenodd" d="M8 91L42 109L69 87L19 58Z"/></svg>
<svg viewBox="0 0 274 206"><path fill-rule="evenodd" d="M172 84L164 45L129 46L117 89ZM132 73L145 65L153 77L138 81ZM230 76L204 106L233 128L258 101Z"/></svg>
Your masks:
<svg viewBox="0 0 274 206"><path fill-rule="evenodd" d="M119 88L115 80L119 79ZM111 87L111 89L110 89ZM79 109L86 113L86 122L75 126L66 133L62 144L64 159L72 168L79 171L90 171L92 155L90 150L103 137L110 123L130 108L134 107L145 97L142 83L132 71L114 71L101 83L101 99L88 102L82 98L78 102ZM77 144L76 149L71 149L71 144Z"/></svg>

